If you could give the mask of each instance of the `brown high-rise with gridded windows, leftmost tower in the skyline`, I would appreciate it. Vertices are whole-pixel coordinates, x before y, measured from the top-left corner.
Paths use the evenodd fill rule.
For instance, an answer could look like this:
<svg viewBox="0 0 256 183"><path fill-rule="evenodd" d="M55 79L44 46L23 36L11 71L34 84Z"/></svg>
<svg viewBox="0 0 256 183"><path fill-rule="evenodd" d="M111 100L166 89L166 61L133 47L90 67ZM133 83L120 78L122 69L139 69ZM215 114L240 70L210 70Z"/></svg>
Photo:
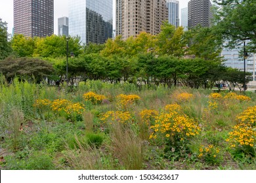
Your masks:
<svg viewBox="0 0 256 183"><path fill-rule="evenodd" d="M14 0L14 33L26 37L53 34L53 0Z"/></svg>

